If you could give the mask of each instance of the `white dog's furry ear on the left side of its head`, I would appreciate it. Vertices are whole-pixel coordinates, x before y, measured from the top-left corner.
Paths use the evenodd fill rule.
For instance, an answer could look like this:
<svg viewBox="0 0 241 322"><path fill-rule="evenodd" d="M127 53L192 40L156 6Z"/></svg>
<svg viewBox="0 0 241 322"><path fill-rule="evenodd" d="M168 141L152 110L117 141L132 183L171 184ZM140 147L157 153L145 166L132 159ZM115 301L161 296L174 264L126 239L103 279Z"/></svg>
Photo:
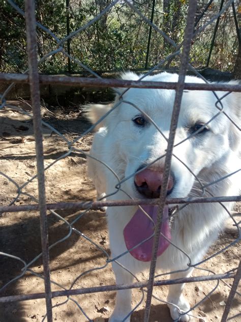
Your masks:
<svg viewBox="0 0 241 322"><path fill-rule="evenodd" d="M110 104L87 104L84 105L84 112L86 117L92 124L98 122L108 111L111 110L113 103ZM105 126L105 118L96 125L95 130Z"/></svg>

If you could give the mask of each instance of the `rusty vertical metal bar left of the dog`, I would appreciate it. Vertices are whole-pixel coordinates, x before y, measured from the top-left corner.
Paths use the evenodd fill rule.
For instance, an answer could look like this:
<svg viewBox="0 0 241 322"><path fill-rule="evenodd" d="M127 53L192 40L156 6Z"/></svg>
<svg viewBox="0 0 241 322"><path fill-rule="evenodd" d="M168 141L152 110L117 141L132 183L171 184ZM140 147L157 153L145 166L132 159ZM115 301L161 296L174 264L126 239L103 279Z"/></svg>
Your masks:
<svg viewBox="0 0 241 322"><path fill-rule="evenodd" d="M31 99L33 107L33 123L35 133L35 148L38 170L38 191L39 191L39 212L40 212L40 229L41 243L43 252L44 267L44 285L45 300L47 310L47 320L52 322L52 301L51 301L51 284L49 270L49 251L48 251L48 227L45 199L45 176L44 176L44 154L43 154L43 137L42 123L40 114L40 89L37 59L37 34L35 19L35 2L33 0L25 0L25 23L27 36L27 56L29 68L29 84L31 89Z"/></svg>

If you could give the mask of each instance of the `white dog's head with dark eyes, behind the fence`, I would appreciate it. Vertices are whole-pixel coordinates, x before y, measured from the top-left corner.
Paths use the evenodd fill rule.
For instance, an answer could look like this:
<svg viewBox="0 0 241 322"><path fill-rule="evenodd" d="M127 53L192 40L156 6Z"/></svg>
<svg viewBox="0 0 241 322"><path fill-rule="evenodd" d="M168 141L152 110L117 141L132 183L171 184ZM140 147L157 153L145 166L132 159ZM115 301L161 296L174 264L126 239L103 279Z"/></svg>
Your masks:
<svg viewBox="0 0 241 322"><path fill-rule="evenodd" d="M122 76L131 80L139 77L131 72ZM177 82L177 78L177 74L164 72L147 76L143 81ZM194 76L187 76L186 82L204 83ZM112 105L99 104L96 109L91 106L89 118L97 121L112 109L100 126L106 128L114 171L121 178L129 177L123 186L134 198L157 198L163 180L175 91L131 88L117 92ZM221 98L226 93L216 94ZM237 123L240 94L230 93L221 103L217 100L211 91L183 93L168 182L170 198L188 196L195 176L222 160L225 162L230 150L237 148L237 130L220 109Z"/></svg>

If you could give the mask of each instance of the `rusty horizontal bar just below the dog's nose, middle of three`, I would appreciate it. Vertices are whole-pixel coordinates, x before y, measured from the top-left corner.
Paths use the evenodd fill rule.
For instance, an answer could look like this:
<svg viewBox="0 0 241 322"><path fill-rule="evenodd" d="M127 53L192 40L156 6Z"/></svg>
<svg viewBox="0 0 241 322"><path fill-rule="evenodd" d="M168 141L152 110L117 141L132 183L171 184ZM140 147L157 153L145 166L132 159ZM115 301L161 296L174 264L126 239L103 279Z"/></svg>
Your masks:
<svg viewBox="0 0 241 322"><path fill-rule="evenodd" d="M165 204L185 204L185 203L210 203L210 202L238 202L241 196L224 197L199 197L199 198L172 198L165 201ZM57 202L47 203L46 209L76 209L84 210L91 207L98 209L102 207L115 206L136 206L136 205L156 205L159 199L134 199L134 200L109 200L109 201L76 201L76 202ZM18 212L18 211L36 211L39 210L39 204L19 205L19 206L1 206L0 213Z"/></svg>

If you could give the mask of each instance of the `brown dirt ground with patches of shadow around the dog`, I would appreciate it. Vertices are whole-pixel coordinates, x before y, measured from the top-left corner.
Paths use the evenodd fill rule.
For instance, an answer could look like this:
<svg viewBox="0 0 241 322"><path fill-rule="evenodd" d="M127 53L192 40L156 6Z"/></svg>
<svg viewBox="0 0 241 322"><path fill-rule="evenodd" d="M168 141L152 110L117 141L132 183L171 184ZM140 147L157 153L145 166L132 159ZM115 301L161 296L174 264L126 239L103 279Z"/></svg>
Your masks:
<svg viewBox="0 0 241 322"><path fill-rule="evenodd" d="M42 115L45 121L61 132L69 141L84 132L89 123L84 119L78 108L71 107L65 111L61 108L43 108ZM0 111L0 171L11 177L19 185L31 179L36 174L35 142L33 138L33 126L29 118L13 110ZM88 151L91 146L93 133L80 139L75 147L82 151ZM56 133L44 128L44 155L45 166L55 161L68 151L67 143ZM74 152L58 160L45 172L47 202L82 201L93 200L96 196L92 182L87 178L85 157L80 152ZM8 205L16 197L16 185L8 178L0 175L0 204ZM37 197L36 179L28 183L14 202L15 205L34 203L27 195ZM65 220L72 222L80 213L74 210L57 210ZM233 212L235 220L240 220L240 207ZM63 220L48 212L49 244L54 244L69 233ZM1 252L20 257L25 262L34 259L41 252L39 216L35 211L2 213L0 215L0 239ZM88 238L109 254L108 232L105 213L103 211L88 211L74 224ZM231 220L217 243L210 249L209 254L214 254L230 244L237 238L237 229ZM239 253L237 244L228 248L218 256L201 265L202 269L208 269L216 274L227 272L238 265ZM105 264L106 256L83 236L74 232L67 239L57 244L50 250L52 290L68 289L72 282L74 288L100 286L114 284L114 276L111 266L99 269ZM0 256L0 286L5 285L21 273L23 263L14 258ZM2 296L43 292L43 266L41 259L31 265L31 270L38 275L26 272L22 277L9 284ZM88 272L87 272L88 271ZM207 275L208 272L195 270L194 275ZM146 273L138 276L140 280L146 280ZM165 277L164 277L165 278ZM225 284L225 283L227 284ZM185 296L192 306L201 299L205 300L197 305L192 312L196 316L195 321L220 321L229 294L229 286L232 280L220 281L218 288L212 293L217 282L190 283L185 287ZM59 286L59 284L61 286ZM240 291L240 290L239 290ZM165 300L167 287L156 287L154 294L161 300ZM133 291L133 307L141 300L140 290ZM240 313L240 294L236 295L229 316ZM67 298L54 298L53 320L84 322L89 319L96 321L111 314L115 301L115 292L102 292L74 296ZM63 305L60 305L64 303ZM145 302L143 301L135 313L132 321L143 319ZM81 312L83 310L87 316ZM31 300L25 302L5 303L0 305L1 322L23 322L43 319L46 313L44 300ZM103 320L103 319L102 319ZM150 322L171 321L166 304L153 300ZM233 318L233 322L240 321L240 316Z"/></svg>

